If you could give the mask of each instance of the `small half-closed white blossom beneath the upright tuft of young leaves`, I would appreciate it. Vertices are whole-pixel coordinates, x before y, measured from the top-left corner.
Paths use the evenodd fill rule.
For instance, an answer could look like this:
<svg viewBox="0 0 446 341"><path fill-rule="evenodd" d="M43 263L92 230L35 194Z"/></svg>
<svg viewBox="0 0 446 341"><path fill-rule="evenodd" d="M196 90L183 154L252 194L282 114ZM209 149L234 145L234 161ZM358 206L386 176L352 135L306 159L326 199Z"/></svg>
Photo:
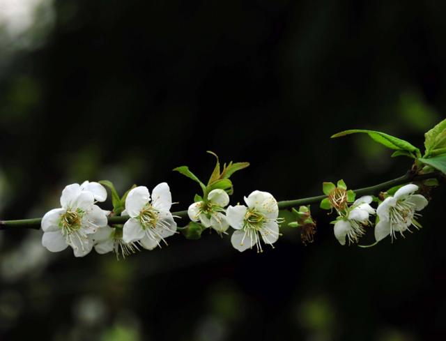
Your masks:
<svg viewBox="0 0 446 341"><path fill-rule="evenodd" d="M208 194L208 202L194 202L187 209L190 220L200 220L204 227L212 227L222 233L229 227L229 222L224 215L224 207L229 204L229 195L224 190L211 190Z"/></svg>

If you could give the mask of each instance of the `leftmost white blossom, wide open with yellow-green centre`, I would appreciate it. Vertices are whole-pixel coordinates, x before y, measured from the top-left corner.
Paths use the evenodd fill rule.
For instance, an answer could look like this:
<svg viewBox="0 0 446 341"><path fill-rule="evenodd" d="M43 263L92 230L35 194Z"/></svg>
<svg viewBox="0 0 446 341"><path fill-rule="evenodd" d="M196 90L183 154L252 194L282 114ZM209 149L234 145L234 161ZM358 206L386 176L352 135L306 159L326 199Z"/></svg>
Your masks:
<svg viewBox="0 0 446 341"><path fill-rule="evenodd" d="M100 192L82 190L78 183L66 186L61 209L53 209L42 218L42 245L51 252L65 250L70 245L76 257L88 254L93 248L91 234L107 225L107 212L95 205L95 197L101 201L107 199L107 192L99 196Z"/></svg>

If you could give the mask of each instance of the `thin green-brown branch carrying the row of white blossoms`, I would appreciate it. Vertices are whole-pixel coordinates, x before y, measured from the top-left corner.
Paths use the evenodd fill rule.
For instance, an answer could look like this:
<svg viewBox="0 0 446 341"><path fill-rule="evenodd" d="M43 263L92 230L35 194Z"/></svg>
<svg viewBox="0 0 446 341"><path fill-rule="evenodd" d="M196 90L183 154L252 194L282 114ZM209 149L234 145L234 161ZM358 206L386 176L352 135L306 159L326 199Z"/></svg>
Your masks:
<svg viewBox="0 0 446 341"><path fill-rule="evenodd" d="M353 190L357 196L362 195L376 195L383 190L388 190L396 185L403 185L405 183L410 183L412 181L422 181L425 179L441 179L444 175L440 172L434 172L429 174L415 174L415 172L409 171L403 176L400 176L397 179L392 179L390 181L385 181L383 183L379 183L378 185L369 186L365 188L359 188L357 190ZM317 197L307 197L302 199L295 200L285 200L283 202L278 202L279 209L291 209L296 206L302 205L310 205L316 204L320 202L322 199L327 197L326 195L318 195ZM172 215L176 218L187 218L187 211L178 211L173 212ZM109 217L109 224L124 224L128 220L128 215L118 215ZM34 218L34 219L22 219L22 220L0 220L0 229L15 229L15 228L23 228L23 229L40 229L40 222L42 222L42 218Z"/></svg>

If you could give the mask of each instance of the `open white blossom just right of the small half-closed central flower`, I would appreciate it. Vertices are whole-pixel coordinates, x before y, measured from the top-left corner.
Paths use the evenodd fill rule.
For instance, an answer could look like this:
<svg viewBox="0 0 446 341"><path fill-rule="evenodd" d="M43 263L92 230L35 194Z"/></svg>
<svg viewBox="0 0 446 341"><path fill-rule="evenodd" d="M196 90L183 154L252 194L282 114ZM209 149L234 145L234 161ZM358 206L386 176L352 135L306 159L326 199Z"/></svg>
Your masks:
<svg viewBox="0 0 446 341"><path fill-rule="evenodd" d="M277 201L270 193L254 190L245 197L245 205L229 206L226 218L235 231L231 237L234 248L240 252L256 245L257 252L262 252L260 236L263 242L272 245L279 238Z"/></svg>

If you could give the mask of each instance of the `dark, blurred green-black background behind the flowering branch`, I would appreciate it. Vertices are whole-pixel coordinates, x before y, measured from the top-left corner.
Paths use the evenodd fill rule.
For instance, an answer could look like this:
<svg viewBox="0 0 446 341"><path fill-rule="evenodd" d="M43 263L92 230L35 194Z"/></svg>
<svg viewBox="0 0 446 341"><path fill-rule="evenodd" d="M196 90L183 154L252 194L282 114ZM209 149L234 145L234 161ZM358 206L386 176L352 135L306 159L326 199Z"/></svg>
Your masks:
<svg viewBox="0 0 446 341"><path fill-rule="evenodd" d="M171 169L206 178L207 150L252 164L233 204L373 185L410 160L330 135L370 128L421 147L444 117L440 1L44 3L20 34L0 24L3 219L42 216L85 179L121 193L167 181L186 209L199 187ZM444 195L424 229L369 249L341 247L316 207L315 243L284 229L261 255L206 232L124 262L75 259L40 231L3 231L0 340L441 340Z"/></svg>

